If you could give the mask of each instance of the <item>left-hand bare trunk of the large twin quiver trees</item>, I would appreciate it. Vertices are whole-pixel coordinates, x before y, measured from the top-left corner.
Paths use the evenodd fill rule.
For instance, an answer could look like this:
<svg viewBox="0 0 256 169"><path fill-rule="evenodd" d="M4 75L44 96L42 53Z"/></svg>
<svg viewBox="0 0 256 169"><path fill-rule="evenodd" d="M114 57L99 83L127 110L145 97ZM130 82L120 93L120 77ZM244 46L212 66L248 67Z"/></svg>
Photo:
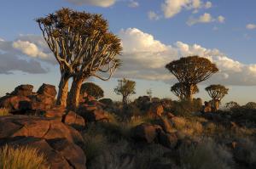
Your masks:
<svg viewBox="0 0 256 169"><path fill-rule="evenodd" d="M61 81L59 83L59 92L57 96L57 105L61 105L63 107L67 106L67 93L68 93L68 76L61 76Z"/></svg>

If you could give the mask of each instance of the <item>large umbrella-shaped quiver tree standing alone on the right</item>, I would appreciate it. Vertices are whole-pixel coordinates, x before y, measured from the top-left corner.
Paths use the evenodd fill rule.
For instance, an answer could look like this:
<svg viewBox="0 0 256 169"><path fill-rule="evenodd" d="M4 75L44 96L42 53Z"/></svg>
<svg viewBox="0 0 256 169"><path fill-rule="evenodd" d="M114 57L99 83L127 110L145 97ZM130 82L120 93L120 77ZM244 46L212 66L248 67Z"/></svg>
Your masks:
<svg viewBox="0 0 256 169"><path fill-rule="evenodd" d="M185 88L184 98L191 101L193 92L199 82L207 80L212 74L218 71L215 64L209 59L199 56L188 56L174 60L166 65L166 69L182 83Z"/></svg>

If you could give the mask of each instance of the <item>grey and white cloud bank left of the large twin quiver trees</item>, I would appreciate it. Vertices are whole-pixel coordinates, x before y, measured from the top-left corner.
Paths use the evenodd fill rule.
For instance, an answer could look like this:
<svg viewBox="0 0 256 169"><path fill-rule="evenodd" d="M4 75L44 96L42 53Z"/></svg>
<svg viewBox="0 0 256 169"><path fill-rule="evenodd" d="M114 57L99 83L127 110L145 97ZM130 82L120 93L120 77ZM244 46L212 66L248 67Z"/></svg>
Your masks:
<svg viewBox="0 0 256 169"><path fill-rule="evenodd" d="M43 37L20 35L15 41L0 40L0 74L11 74L15 70L30 74L47 73L42 61L51 65L55 59Z"/></svg>

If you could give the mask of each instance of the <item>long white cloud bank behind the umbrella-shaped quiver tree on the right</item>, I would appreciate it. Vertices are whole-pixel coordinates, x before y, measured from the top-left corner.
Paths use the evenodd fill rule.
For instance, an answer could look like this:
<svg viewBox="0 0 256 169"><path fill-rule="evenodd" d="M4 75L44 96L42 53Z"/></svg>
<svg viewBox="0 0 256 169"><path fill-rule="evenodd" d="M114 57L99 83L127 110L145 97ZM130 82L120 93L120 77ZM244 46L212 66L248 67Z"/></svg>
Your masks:
<svg viewBox="0 0 256 169"><path fill-rule="evenodd" d="M137 28L121 30L119 37L124 48L123 67L116 72L116 77L174 82L174 76L166 70L165 65L180 57L199 55L212 60L219 68L219 72L212 76L207 84L256 85L256 64L242 64L218 49L203 48L198 44L190 45L184 42L166 45Z"/></svg>

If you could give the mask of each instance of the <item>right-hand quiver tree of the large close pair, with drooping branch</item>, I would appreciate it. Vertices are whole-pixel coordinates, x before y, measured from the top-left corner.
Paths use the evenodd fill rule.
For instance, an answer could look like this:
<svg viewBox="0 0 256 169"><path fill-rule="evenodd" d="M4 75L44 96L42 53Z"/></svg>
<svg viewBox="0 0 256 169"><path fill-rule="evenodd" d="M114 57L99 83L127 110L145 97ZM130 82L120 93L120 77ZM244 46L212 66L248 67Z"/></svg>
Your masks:
<svg viewBox="0 0 256 169"><path fill-rule="evenodd" d="M85 13L82 13L82 15ZM87 16L87 15L86 15ZM108 21L102 15L89 14L79 18L79 62L74 66L69 106L75 110L79 105L82 83L90 76L108 81L120 66L118 55L122 47L120 39L108 31Z"/></svg>

